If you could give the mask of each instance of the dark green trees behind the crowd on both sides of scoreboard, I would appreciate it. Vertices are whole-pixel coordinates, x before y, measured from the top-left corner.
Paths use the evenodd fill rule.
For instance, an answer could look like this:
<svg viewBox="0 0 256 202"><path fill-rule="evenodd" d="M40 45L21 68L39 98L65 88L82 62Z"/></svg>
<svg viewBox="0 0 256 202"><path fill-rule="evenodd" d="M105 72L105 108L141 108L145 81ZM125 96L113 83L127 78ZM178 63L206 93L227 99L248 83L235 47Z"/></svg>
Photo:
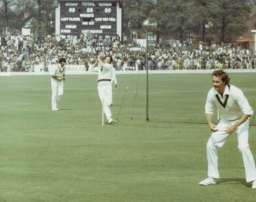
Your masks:
<svg viewBox="0 0 256 202"><path fill-rule="evenodd" d="M252 4L243 0L123 0L123 32L133 38L133 31L145 29L143 22L157 23L157 35L168 33L174 38L186 38L191 33L202 40L215 37L229 41L232 35L246 31L246 20ZM56 0L0 0L0 25L3 30L21 29L24 13L33 17L31 28L37 35L54 33ZM2 31L3 31L2 30Z"/></svg>

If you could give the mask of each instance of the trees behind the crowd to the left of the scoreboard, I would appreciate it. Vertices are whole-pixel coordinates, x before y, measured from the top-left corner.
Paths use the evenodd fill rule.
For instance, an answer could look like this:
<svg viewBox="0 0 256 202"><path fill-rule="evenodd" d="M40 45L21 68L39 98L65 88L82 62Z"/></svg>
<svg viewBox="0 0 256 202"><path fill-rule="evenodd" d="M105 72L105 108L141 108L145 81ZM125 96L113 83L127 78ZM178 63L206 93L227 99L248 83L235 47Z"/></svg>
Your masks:
<svg viewBox="0 0 256 202"><path fill-rule="evenodd" d="M31 19L29 26L37 35L53 33L55 7L56 0L0 0L0 27L21 30Z"/></svg>

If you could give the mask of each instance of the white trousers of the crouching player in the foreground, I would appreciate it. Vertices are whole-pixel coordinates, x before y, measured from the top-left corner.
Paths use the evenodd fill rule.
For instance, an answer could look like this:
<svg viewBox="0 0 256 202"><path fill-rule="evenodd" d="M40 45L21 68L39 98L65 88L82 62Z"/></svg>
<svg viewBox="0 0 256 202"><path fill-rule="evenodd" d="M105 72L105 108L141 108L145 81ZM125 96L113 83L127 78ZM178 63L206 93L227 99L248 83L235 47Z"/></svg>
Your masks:
<svg viewBox="0 0 256 202"><path fill-rule="evenodd" d="M232 136L232 134L230 135L225 132L225 128L231 126L235 122L236 121L225 121L221 119L219 121L219 124L217 124L217 128L219 130L217 132L213 132L212 136L210 136L210 138L208 139L208 143L206 145L208 177L219 179L217 149L224 145L227 137ZM238 138L238 149L242 154L242 159L244 162L246 181L251 182L253 180L256 180L256 169L253 155L251 154L248 143L249 119L246 122L242 123L240 126L238 126L238 128L236 129L236 133Z"/></svg>

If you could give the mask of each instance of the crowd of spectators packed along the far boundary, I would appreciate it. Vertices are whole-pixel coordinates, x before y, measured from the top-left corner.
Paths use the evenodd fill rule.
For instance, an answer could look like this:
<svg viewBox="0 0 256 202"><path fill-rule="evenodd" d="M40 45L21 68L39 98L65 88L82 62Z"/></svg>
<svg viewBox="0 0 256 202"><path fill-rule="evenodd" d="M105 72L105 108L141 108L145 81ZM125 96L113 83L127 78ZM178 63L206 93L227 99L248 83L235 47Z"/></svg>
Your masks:
<svg viewBox="0 0 256 202"><path fill-rule="evenodd" d="M59 57L67 65L84 65L89 70L97 55L112 55L117 70L145 70L146 48L136 41L121 42L118 36L1 36L0 71L33 71L42 64L42 71L56 63ZM256 55L248 48L234 44L204 44L195 40L168 40L155 44L148 51L150 70L195 70L215 68L245 68L256 66Z"/></svg>

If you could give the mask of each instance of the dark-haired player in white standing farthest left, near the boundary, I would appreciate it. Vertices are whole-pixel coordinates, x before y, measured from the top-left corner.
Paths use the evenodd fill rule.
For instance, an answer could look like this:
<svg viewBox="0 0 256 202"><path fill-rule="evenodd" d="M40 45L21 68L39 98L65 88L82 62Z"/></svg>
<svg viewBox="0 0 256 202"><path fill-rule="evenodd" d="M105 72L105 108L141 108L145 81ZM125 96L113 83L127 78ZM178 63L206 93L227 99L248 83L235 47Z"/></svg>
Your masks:
<svg viewBox="0 0 256 202"><path fill-rule="evenodd" d="M57 101L63 95L63 81L65 81L65 63L66 59L61 57L56 66L52 67L52 111L59 110L57 108Z"/></svg>

